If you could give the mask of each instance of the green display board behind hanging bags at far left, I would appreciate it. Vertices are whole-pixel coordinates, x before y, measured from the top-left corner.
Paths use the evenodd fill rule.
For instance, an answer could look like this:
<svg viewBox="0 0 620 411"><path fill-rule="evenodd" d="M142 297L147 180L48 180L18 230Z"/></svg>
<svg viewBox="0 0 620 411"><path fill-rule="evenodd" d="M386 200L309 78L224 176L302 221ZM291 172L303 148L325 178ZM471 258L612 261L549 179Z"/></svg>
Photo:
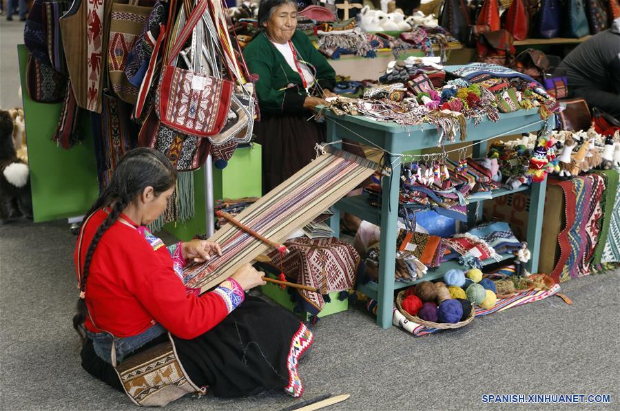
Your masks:
<svg viewBox="0 0 620 411"><path fill-rule="evenodd" d="M82 143L64 150L51 138L62 104L35 103L25 87L28 50L17 46L28 138L28 165L32 185L34 222L83 215L99 196L94 146L88 116L81 118Z"/></svg>

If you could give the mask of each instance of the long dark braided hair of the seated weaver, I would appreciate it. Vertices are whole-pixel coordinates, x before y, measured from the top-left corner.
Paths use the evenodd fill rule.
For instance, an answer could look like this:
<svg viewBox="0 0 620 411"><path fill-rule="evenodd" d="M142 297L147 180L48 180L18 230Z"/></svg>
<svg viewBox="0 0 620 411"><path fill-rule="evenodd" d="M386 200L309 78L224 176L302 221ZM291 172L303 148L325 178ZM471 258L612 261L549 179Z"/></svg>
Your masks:
<svg viewBox="0 0 620 411"><path fill-rule="evenodd" d="M125 156L116 165L112 174L112 181L99 195L86 217L102 207L109 207L110 213L97 229L86 251L83 270L80 275L80 298L77 302L77 313L73 317L73 328L76 330L82 343L85 338L84 320L87 316L87 307L84 299L88 269L94 251L107 229L118 220L118 215L143 193L146 187L153 187L155 196L174 187L176 183L176 169L159 151L147 148L137 148L127 151ZM87 219L84 220L84 222ZM82 224L84 224L84 222ZM84 227L82 226L82 229ZM81 258L78 255L78 258Z"/></svg>

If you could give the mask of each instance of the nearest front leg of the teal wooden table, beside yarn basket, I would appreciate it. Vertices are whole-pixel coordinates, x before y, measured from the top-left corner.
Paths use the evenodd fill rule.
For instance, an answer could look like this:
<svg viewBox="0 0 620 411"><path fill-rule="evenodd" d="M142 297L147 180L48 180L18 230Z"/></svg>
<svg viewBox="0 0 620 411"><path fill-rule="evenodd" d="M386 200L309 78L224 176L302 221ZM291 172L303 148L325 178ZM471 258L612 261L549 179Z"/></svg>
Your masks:
<svg viewBox="0 0 620 411"><path fill-rule="evenodd" d="M400 158L389 156L390 176L381 180L381 240L379 258L379 292L377 324L382 328L392 325L394 304L394 272L396 265L396 237L398 219L398 191L400 188Z"/></svg>

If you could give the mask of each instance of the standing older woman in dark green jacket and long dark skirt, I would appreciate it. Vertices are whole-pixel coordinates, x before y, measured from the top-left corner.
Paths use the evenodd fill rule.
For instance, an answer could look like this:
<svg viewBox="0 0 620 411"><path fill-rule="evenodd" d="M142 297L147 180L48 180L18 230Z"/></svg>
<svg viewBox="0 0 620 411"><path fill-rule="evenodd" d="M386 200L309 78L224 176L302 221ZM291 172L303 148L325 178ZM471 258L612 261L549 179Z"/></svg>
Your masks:
<svg viewBox="0 0 620 411"><path fill-rule="evenodd" d="M296 30L297 3L264 0L258 9L262 32L243 56L258 75L263 192L267 193L307 165L325 140L325 127L311 117L324 98L335 96L335 72L307 36Z"/></svg>

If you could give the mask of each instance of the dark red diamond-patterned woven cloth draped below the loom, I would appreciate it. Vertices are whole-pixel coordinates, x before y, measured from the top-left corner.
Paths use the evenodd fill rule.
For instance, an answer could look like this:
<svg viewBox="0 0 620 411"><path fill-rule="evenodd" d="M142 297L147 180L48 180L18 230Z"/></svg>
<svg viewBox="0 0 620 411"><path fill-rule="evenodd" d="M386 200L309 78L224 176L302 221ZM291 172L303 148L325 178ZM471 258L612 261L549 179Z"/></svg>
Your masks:
<svg viewBox="0 0 620 411"><path fill-rule="evenodd" d="M338 238L294 238L284 244L287 255L278 250L269 253L271 266L282 270L288 281L323 288L322 293L347 291L355 285L360 255L351 244ZM325 305L323 296L314 291L296 289L302 297L302 309L316 315Z"/></svg>

